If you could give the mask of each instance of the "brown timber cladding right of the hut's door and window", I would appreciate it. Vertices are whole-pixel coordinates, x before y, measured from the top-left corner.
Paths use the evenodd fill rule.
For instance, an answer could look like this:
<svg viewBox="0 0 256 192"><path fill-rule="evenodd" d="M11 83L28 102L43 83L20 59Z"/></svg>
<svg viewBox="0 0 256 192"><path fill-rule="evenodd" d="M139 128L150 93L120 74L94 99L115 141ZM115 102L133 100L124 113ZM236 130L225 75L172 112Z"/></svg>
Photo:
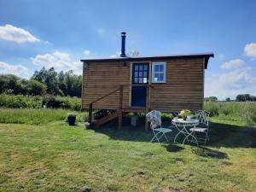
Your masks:
<svg viewBox="0 0 256 192"><path fill-rule="evenodd" d="M150 108L165 112L202 109L204 70L203 58L166 61L166 83L152 84Z"/></svg>

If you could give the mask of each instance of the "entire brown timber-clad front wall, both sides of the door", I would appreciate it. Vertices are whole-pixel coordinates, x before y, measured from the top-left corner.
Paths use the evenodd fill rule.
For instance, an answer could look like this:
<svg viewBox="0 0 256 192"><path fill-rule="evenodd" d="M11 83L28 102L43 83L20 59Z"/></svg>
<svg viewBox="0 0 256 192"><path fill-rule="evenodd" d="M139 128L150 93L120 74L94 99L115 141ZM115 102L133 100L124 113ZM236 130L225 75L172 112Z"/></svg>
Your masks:
<svg viewBox="0 0 256 192"><path fill-rule="evenodd" d="M129 108L130 65L127 61L125 67L123 61L90 62L84 68L83 108L89 108L90 102L116 90L119 85L125 85L123 107ZM204 58L166 60L166 83L151 84L150 108L164 112L178 112L183 108L193 111L202 109L204 70ZM119 108L119 92L94 103L93 108Z"/></svg>

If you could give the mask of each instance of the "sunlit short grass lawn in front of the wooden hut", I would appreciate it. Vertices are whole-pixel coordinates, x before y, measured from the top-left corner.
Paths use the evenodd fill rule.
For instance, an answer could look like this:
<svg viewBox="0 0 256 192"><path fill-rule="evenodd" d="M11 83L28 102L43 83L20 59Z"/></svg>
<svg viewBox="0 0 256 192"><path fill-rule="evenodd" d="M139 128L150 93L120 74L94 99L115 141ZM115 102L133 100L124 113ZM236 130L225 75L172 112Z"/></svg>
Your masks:
<svg viewBox="0 0 256 192"><path fill-rule="evenodd" d="M0 191L255 191L256 129L212 123L204 147L151 131L0 124Z"/></svg>

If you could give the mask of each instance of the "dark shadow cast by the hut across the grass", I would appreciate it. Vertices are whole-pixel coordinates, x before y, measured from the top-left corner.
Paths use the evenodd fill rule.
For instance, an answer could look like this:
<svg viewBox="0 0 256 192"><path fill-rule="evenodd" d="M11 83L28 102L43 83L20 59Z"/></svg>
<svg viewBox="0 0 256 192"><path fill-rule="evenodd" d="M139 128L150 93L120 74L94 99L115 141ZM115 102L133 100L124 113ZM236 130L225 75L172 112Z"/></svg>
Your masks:
<svg viewBox="0 0 256 192"><path fill-rule="evenodd" d="M117 130L117 125L103 125L95 128L96 132L102 133L114 140L148 142L153 137L152 131L144 131L143 125L137 127L124 126L122 130ZM177 134L175 128L171 134L168 133L169 141L173 141L173 137ZM221 123L210 123L209 133L210 142L206 147L227 147L227 148L256 148L256 129L250 127L242 127L238 125L227 125ZM178 138L183 141L183 136ZM172 142L171 142L172 143ZM175 146L175 147L173 147ZM170 145L172 152L180 150L176 145Z"/></svg>

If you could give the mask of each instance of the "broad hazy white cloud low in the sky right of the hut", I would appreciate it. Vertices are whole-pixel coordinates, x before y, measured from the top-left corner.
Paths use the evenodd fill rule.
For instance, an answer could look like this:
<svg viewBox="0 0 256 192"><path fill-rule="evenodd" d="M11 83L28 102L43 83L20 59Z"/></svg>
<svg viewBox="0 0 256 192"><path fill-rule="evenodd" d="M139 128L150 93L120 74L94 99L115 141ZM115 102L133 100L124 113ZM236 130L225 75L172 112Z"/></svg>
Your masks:
<svg viewBox="0 0 256 192"><path fill-rule="evenodd" d="M256 95L256 78L252 68L236 68L228 73L207 76L205 96L217 96L219 99L226 97L235 98L238 94L249 93Z"/></svg>

